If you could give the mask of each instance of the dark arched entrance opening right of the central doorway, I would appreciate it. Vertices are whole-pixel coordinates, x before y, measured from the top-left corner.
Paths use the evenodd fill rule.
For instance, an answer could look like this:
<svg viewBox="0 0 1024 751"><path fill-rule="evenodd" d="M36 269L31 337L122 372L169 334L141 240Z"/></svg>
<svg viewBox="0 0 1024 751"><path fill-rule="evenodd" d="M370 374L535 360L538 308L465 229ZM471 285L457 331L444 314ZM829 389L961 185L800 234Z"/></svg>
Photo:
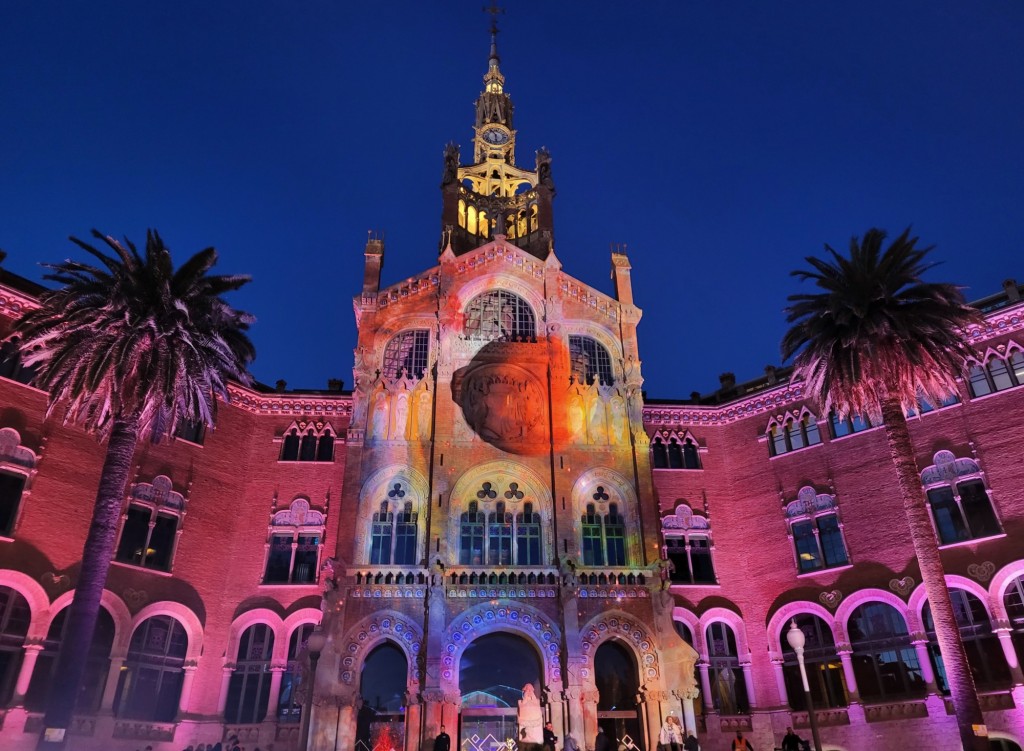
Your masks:
<svg viewBox="0 0 1024 751"><path fill-rule="evenodd" d="M637 695L638 670L633 655L615 641L605 641L594 656L594 683L597 686L597 723L616 748L644 748Z"/></svg>

